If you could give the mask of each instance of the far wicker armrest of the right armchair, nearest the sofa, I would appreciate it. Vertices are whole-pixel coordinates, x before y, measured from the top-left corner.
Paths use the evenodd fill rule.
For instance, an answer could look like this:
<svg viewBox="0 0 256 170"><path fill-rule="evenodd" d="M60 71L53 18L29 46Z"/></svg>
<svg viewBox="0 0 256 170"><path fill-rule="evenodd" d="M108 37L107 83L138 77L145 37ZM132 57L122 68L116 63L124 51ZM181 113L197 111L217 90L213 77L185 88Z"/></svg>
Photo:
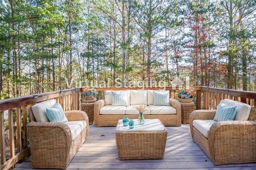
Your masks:
<svg viewBox="0 0 256 170"><path fill-rule="evenodd" d="M195 110L190 114L189 126L191 136L193 138L193 121L194 120L212 120L216 114L216 110Z"/></svg>

